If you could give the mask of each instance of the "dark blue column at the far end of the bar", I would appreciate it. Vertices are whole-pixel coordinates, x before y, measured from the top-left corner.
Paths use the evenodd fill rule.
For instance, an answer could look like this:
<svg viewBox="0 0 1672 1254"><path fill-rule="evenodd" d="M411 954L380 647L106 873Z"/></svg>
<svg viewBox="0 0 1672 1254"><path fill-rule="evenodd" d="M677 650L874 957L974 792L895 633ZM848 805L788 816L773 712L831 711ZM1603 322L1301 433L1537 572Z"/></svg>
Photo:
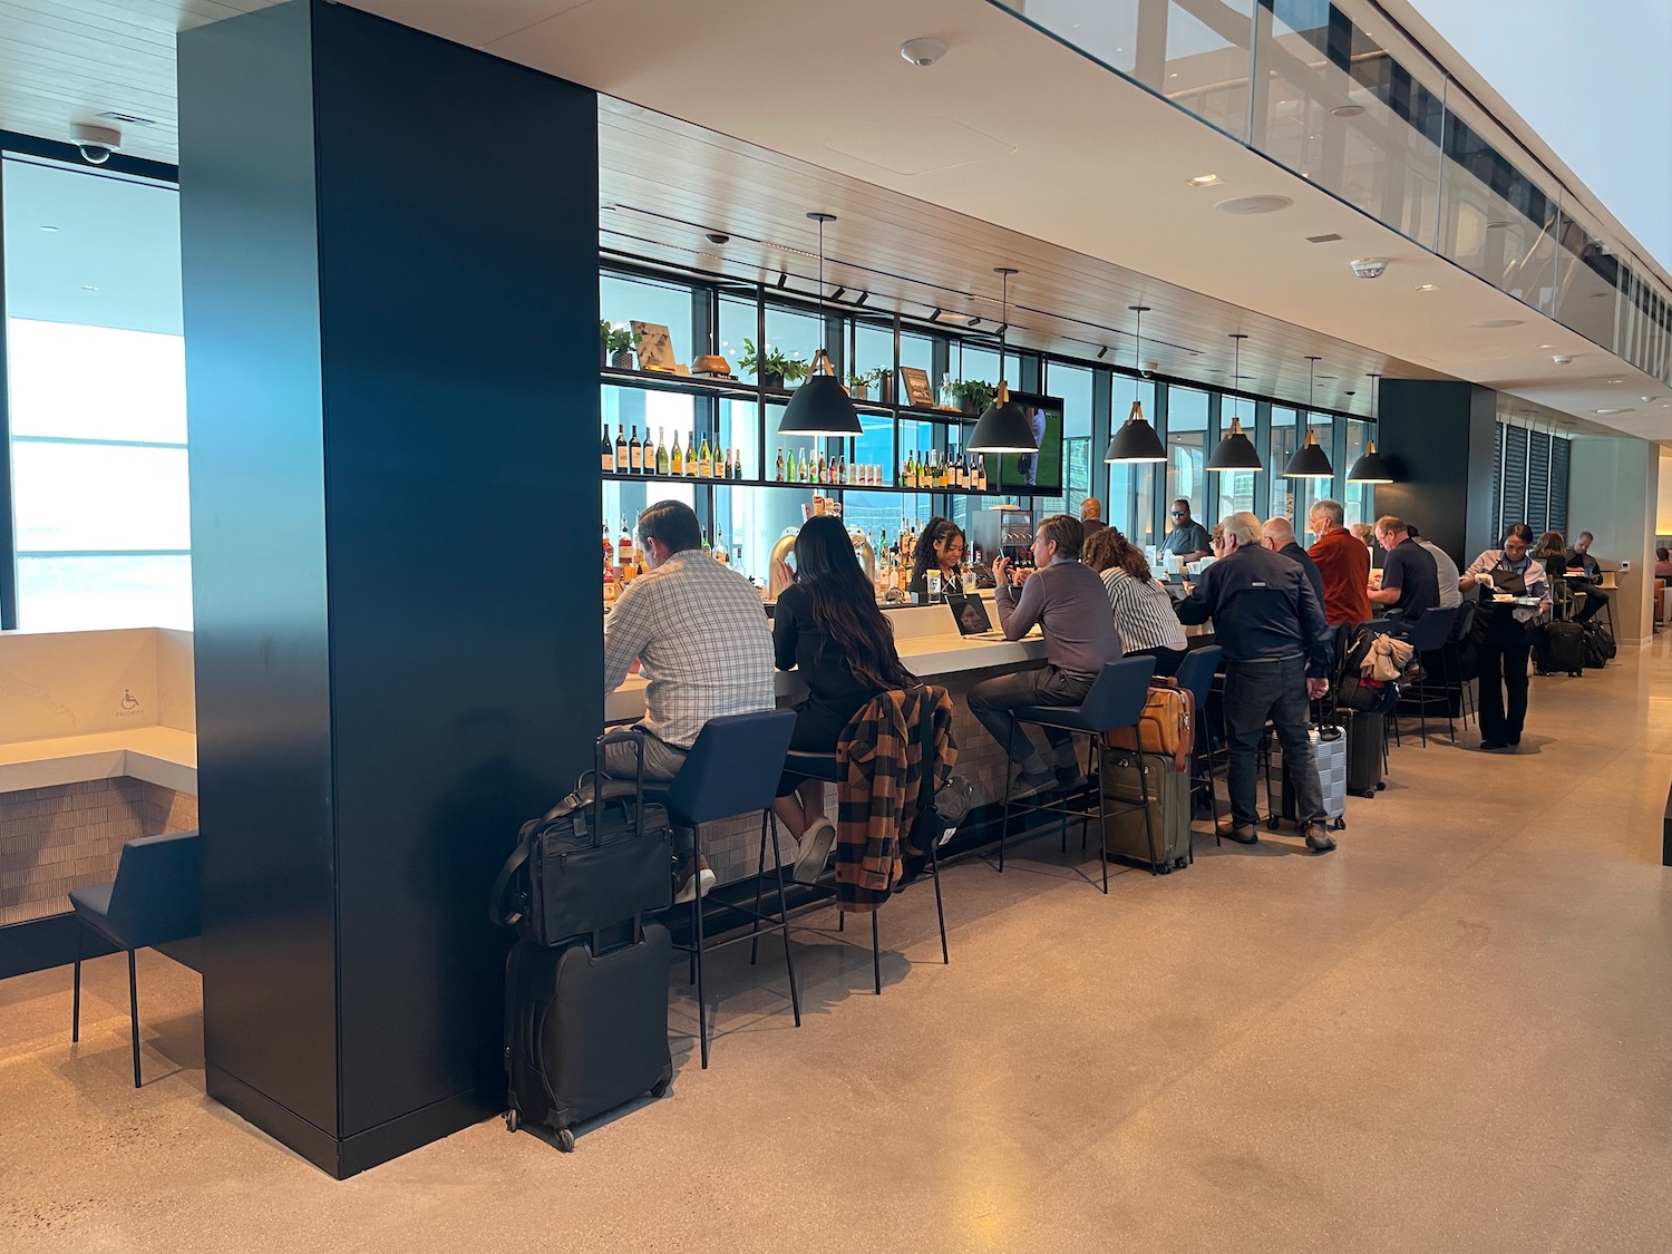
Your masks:
<svg viewBox="0 0 1672 1254"><path fill-rule="evenodd" d="M1475 383L1383 380L1376 451L1396 483L1376 485L1376 512L1394 513L1468 565L1491 535L1491 446L1498 393Z"/></svg>

